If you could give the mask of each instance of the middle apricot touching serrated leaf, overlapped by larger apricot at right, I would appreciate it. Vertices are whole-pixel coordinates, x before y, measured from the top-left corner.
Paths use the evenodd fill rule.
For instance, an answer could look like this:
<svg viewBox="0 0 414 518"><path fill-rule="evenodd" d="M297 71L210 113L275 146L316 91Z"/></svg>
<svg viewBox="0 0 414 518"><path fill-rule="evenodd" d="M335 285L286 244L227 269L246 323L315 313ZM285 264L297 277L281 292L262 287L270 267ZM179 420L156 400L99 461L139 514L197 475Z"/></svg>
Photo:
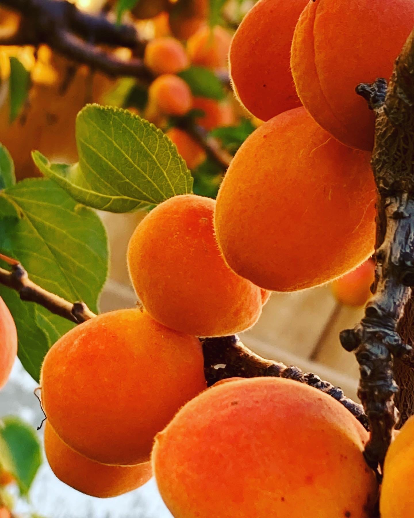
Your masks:
<svg viewBox="0 0 414 518"><path fill-rule="evenodd" d="M260 289L236 275L218 251L215 201L185 194L158 205L128 245L132 284L162 324L197 336L232 335L260 316Z"/></svg>

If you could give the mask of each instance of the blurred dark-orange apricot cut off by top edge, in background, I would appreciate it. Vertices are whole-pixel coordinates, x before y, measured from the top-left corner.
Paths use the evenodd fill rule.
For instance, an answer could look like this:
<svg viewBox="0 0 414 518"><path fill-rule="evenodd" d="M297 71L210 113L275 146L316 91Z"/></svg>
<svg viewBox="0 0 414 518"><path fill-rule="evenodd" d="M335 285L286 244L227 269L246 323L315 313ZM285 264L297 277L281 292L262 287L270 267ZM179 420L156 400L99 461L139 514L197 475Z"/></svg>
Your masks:
<svg viewBox="0 0 414 518"><path fill-rule="evenodd" d="M170 10L172 34L187 40L206 23L209 0L178 0Z"/></svg>

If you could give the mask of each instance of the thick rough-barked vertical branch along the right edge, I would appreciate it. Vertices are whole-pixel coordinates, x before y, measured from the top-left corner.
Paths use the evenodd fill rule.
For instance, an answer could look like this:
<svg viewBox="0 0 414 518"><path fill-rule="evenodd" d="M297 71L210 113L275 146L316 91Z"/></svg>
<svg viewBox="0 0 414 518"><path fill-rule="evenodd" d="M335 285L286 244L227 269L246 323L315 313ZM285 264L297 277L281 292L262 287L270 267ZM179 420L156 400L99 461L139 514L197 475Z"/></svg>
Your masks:
<svg viewBox="0 0 414 518"><path fill-rule="evenodd" d="M341 333L345 349L360 364L361 398L371 427L365 457L374 469L383 464L397 411L392 360L411 347L397 325L414 285L414 30L409 36L385 91L383 80L360 85L376 113L372 168L378 189L375 294L365 316Z"/></svg>

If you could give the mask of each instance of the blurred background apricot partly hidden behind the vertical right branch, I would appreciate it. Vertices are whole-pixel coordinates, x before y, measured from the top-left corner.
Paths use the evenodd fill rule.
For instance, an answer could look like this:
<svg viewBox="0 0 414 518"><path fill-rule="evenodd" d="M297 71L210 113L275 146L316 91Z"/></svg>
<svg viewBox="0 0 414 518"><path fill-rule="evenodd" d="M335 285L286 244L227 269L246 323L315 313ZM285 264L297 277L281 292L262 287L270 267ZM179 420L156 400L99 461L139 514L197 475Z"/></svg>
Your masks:
<svg viewBox="0 0 414 518"><path fill-rule="evenodd" d="M368 260L349 274L333 281L331 289L340 303L346 306L363 306L371 298L369 288L374 282L374 277L375 264Z"/></svg>

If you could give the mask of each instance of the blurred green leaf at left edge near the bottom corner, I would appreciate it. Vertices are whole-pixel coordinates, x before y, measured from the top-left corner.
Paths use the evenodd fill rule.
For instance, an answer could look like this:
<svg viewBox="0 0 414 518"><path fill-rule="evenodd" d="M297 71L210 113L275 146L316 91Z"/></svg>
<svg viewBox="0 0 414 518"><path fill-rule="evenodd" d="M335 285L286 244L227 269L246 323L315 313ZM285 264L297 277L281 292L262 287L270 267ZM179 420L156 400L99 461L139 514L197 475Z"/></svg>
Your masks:
<svg viewBox="0 0 414 518"><path fill-rule="evenodd" d="M13 475L22 495L27 495L42 463L35 430L16 417L0 421L0 464Z"/></svg>

